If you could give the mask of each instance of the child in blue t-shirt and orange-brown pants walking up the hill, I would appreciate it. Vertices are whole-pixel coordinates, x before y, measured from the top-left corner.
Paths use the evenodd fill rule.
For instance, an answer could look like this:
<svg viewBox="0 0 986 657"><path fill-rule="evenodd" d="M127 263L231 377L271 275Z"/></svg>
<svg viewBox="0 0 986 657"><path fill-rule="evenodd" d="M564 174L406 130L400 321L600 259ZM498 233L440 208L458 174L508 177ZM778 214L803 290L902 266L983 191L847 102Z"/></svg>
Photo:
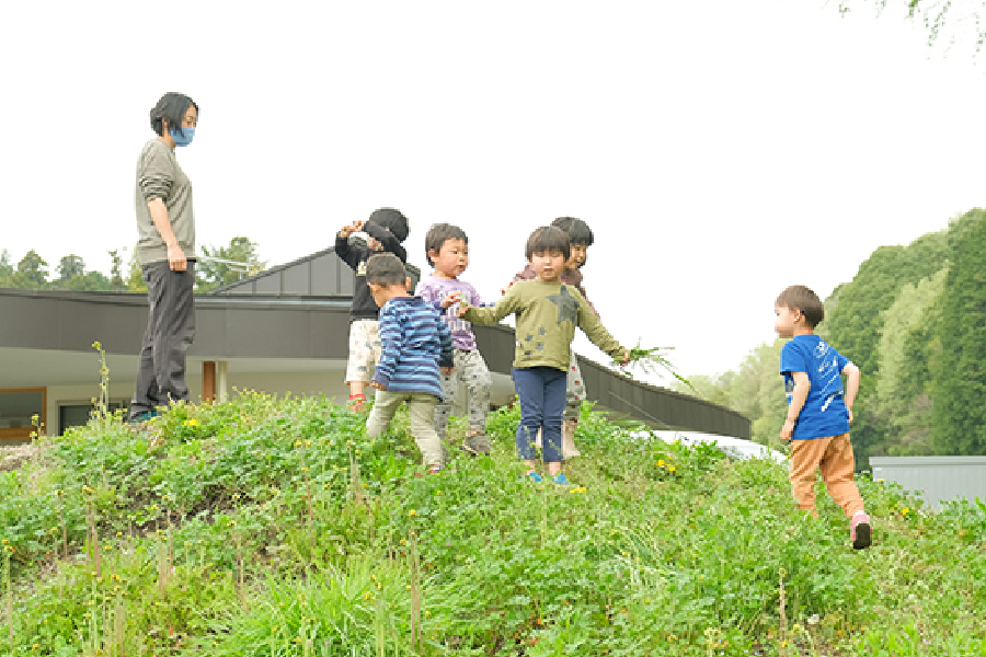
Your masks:
<svg viewBox="0 0 986 657"><path fill-rule="evenodd" d="M870 517L852 480L856 458L849 442L852 403L859 392L859 368L815 335L825 316L818 296L794 285L773 303L780 337L792 338L781 350L781 374L788 396L788 417L781 439L791 441L791 492L798 508L815 511L815 472L828 494L849 518L849 534L857 550L869 548ZM846 391L842 378L846 374Z"/></svg>

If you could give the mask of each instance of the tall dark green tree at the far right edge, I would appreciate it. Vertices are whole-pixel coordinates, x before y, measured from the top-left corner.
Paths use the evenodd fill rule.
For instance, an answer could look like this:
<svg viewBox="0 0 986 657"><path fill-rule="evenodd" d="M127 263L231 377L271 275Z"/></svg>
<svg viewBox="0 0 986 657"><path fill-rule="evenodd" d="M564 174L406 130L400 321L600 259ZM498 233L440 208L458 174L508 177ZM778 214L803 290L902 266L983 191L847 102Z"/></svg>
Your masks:
<svg viewBox="0 0 986 657"><path fill-rule="evenodd" d="M939 453L986 454L986 212L953 223L949 246L931 442Z"/></svg>

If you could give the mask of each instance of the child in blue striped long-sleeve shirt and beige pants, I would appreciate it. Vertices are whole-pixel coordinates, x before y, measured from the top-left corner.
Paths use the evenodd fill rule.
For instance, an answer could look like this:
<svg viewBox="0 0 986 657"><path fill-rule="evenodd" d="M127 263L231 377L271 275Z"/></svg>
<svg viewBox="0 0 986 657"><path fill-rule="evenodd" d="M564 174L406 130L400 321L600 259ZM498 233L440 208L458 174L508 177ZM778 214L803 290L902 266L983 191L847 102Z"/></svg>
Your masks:
<svg viewBox="0 0 986 657"><path fill-rule="evenodd" d="M366 435L376 438L387 430L394 413L408 402L411 435L431 472L445 465L446 450L435 433L435 405L442 399L438 376L454 369L452 341L438 311L406 288L404 263L381 253L366 263L366 283L380 307L380 362L370 385L377 389L374 408L366 420Z"/></svg>

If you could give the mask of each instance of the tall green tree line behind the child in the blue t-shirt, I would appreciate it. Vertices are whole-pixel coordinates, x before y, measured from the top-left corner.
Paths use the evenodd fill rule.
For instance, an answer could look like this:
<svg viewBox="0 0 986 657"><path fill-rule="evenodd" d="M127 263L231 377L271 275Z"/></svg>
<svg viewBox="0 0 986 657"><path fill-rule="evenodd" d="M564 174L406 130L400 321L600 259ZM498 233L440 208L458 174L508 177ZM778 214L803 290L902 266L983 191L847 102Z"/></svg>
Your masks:
<svg viewBox="0 0 986 657"><path fill-rule="evenodd" d="M881 246L825 300L817 333L859 366L857 466L880 456L986 454L986 210L906 246ZM740 367L689 380L746 415L754 440L780 445L782 339ZM689 392L684 387L680 392Z"/></svg>

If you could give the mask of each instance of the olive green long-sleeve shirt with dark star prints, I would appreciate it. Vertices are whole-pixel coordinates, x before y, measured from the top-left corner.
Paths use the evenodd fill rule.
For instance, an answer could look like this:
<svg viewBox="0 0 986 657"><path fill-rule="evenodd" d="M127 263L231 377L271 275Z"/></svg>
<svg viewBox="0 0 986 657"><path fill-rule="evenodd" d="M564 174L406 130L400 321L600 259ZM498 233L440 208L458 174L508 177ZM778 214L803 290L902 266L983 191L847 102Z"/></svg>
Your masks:
<svg viewBox="0 0 986 657"><path fill-rule="evenodd" d="M496 306L470 307L462 319L483 326L511 313L517 315L514 367L543 366L569 371L576 326L614 359L623 356L623 347L603 326L585 298L574 286L560 281L515 283Z"/></svg>

